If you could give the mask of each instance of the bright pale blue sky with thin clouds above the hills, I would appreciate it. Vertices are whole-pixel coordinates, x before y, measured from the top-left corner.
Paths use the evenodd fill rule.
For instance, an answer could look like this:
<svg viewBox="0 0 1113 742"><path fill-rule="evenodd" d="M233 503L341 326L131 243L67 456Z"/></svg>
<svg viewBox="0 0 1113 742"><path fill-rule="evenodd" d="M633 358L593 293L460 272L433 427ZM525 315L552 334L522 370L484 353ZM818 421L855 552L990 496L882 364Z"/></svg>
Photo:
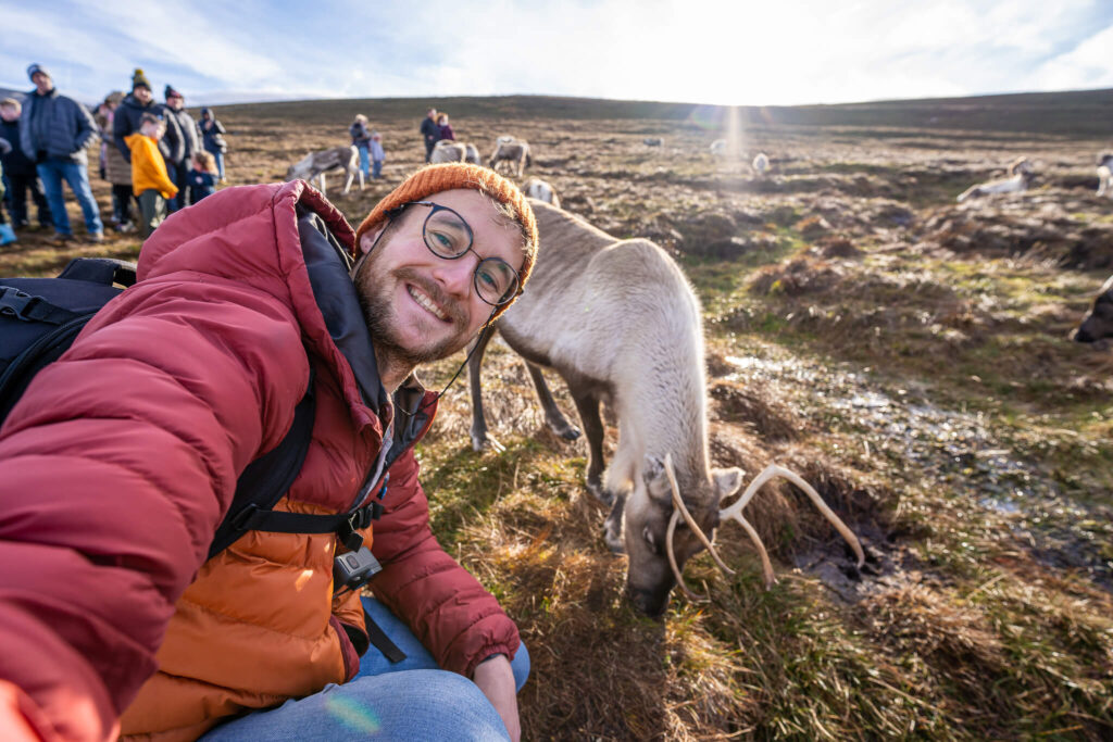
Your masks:
<svg viewBox="0 0 1113 742"><path fill-rule="evenodd" d="M839 103L1113 88L1113 0L0 0L0 87L87 102L534 93Z"/></svg>

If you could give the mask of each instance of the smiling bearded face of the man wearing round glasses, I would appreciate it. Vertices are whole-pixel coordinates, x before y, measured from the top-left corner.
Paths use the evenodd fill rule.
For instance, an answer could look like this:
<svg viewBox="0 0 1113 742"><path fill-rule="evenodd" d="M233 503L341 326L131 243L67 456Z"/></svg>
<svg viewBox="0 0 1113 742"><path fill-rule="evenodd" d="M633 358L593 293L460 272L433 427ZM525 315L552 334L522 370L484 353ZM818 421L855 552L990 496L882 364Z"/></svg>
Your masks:
<svg viewBox="0 0 1113 742"><path fill-rule="evenodd" d="M460 214L472 228L472 248L480 256L500 257L521 268L521 234L485 196L456 189L422 200ZM446 260L425 246L422 226L429 214L427 206L407 207L356 267L354 279L376 349L408 368L463 348L494 309L475 291L473 274L480 257L469 251ZM371 250L378 231L361 238L361 253Z"/></svg>

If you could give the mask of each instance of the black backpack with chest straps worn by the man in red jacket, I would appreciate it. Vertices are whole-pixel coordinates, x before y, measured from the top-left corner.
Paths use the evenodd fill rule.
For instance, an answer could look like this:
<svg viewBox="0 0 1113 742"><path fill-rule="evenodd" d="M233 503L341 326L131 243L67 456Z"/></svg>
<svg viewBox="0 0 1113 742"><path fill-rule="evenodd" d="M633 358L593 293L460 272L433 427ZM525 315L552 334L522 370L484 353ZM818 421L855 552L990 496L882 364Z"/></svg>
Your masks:
<svg viewBox="0 0 1113 742"><path fill-rule="evenodd" d="M135 283L135 264L110 258L75 258L57 278L0 278L0 424L35 375L70 347L97 310L122 293L120 286ZM311 365L309 385L294 409L289 432L274 449L252 462L239 476L232 507L214 535L209 558L248 531L335 532L349 550L363 551L363 538L355 532L377 520L382 505L375 498L361 508L334 515L272 509L289 489L305 463L313 437L315 410ZM372 484L365 484L365 489L370 489ZM362 494L356 502L363 502L366 491ZM370 577L377 572L375 567L377 564L366 565L367 571L374 571L355 576L345 572L341 584L357 586L349 583L357 576Z"/></svg>

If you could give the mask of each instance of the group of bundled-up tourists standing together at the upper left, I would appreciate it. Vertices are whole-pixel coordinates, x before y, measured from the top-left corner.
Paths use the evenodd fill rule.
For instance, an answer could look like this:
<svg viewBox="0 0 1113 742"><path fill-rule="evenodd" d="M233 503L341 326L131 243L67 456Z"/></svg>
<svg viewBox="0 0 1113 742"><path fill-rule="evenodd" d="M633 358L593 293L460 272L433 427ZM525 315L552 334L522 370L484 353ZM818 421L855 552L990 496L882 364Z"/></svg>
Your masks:
<svg viewBox="0 0 1113 742"><path fill-rule="evenodd" d="M226 182L228 145L211 109L203 108L200 121L195 121L185 109L185 96L169 85L164 102L156 102L142 69L137 68L131 77L131 92L109 93L96 116L60 95L41 65L31 65L27 73L35 90L24 102L0 100L0 192L11 211L9 225L0 208L0 245L14 241L16 229L29 226L28 192L40 227L53 227L56 241L73 239L63 180L81 207L86 239L104 240L105 225L89 185L86 154L96 137L101 141L98 171L111 185L111 224L117 231L138 227L147 236L168 214L211 194L217 182Z"/></svg>

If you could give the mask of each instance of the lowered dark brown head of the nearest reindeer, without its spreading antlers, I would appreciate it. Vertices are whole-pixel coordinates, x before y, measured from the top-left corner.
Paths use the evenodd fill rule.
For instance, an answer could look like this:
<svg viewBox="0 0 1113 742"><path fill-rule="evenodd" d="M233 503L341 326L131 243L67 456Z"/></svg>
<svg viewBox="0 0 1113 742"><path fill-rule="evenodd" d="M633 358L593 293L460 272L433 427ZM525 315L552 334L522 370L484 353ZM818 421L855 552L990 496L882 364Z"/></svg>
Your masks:
<svg viewBox="0 0 1113 742"><path fill-rule="evenodd" d="M710 481L706 474L681 472L678 481L671 455L664 462L646 457L642 482L634 487L626 509L624 528L630 558L627 590L639 611L651 616L664 611L669 592L677 584L677 570L682 571L684 563L705 547L705 534L713 534L719 526L719 503L741 484L739 468L712 469ZM669 524L677 512L674 497L683 497L691 518L699 525L697 532L687 521L681 526L673 524L671 558L676 570L670 565L668 546Z"/></svg>

